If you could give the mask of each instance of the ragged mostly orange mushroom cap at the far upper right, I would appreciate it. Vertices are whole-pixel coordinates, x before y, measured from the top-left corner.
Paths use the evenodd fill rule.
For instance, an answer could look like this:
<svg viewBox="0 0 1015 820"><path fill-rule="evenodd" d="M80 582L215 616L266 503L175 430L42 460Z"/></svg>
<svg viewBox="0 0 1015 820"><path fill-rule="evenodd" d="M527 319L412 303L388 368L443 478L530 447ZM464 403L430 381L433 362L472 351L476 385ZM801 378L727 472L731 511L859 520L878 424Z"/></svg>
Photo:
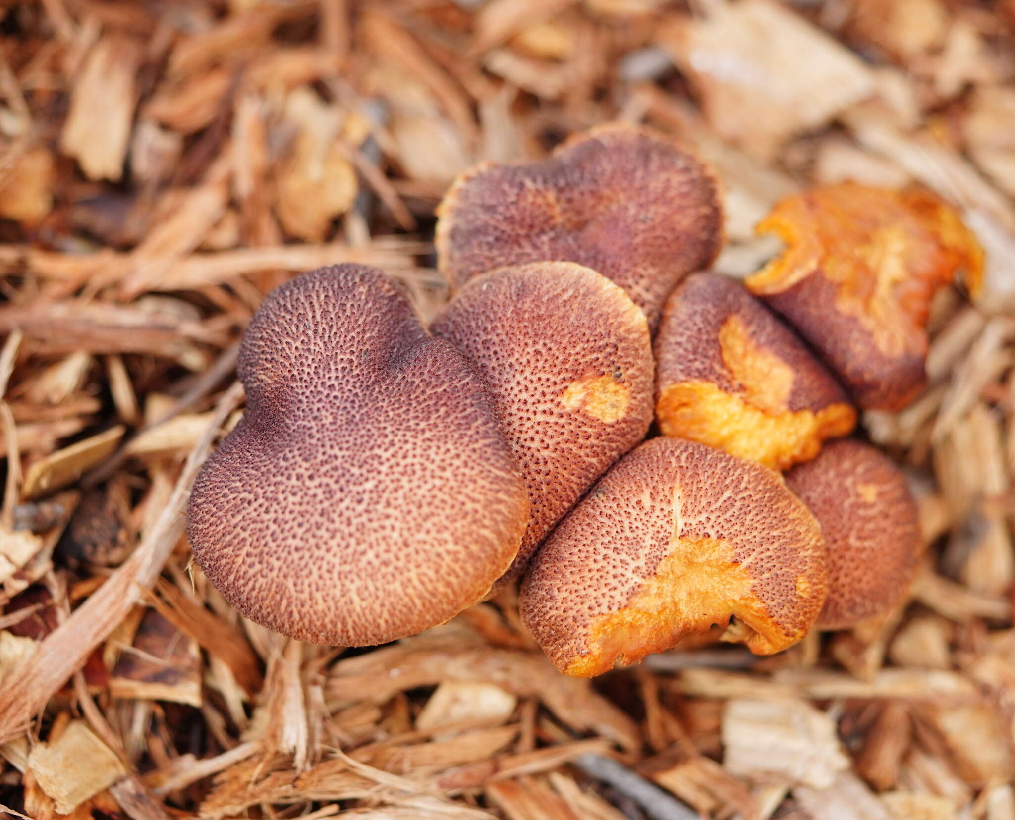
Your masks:
<svg viewBox="0 0 1015 820"><path fill-rule="evenodd" d="M898 410L926 382L934 293L984 253L933 194L843 183L779 203L757 226L787 244L747 287L814 347L865 409Z"/></svg>

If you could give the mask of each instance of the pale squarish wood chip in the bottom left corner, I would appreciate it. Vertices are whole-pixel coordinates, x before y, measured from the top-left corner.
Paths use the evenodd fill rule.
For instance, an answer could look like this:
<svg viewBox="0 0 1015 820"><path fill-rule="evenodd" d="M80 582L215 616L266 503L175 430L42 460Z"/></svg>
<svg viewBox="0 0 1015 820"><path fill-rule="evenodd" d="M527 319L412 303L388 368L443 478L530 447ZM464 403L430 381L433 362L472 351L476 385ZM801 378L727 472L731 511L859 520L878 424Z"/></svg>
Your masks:
<svg viewBox="0 0 1015 820"><path fill-rule="evenodd" d="M51 743L28 755L28 770L61 814L108 789L127 770L84 721L74 721Z"/></svg>

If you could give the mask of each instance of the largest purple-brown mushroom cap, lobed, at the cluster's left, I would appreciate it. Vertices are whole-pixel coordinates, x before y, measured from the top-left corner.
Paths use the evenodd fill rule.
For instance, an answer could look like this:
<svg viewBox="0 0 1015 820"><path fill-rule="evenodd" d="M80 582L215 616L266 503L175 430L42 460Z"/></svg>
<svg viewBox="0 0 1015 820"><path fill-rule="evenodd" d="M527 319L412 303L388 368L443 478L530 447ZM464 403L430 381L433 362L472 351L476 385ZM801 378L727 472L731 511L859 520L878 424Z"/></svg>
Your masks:
<svg viewBox="0 0 1015 820"><path fill-rule="evenodd" d="M247 412L198 476L188 537L243 615L382 643L454 617L511 565L528 498L486 388L381 271L276 288L239 369Z"/></svg>

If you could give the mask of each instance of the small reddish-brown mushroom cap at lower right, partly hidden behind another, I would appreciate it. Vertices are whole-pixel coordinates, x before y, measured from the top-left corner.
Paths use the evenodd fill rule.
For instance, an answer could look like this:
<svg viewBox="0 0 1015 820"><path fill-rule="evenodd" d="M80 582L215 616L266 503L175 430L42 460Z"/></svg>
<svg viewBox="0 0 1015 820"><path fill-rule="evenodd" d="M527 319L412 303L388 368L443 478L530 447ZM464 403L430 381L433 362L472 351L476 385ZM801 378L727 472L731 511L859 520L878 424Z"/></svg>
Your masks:
<svg viewBox="0 0 1015 820"><path fill-rule="evenodd" d="M818 628L848 629L898 604L923 542L917 504L895 463L861 441L832 441L788 472L786 484L824 537L828 597Z"/></svg>

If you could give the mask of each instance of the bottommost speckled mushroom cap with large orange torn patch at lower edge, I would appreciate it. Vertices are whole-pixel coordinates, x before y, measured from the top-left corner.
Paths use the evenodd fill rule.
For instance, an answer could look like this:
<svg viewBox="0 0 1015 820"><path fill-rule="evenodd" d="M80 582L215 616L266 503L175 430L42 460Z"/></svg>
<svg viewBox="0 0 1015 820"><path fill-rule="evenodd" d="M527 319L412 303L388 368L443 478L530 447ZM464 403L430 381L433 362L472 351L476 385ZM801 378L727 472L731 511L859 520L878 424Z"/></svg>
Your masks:
<svg viewBox="0 0 1015 820"><path fill-rule="evenodd" d="M625 456L529 565L521 611L568 675L591 677L713 624L761 655L814 623L825 595L814 517L782 477L696 441Z"/></svg>

